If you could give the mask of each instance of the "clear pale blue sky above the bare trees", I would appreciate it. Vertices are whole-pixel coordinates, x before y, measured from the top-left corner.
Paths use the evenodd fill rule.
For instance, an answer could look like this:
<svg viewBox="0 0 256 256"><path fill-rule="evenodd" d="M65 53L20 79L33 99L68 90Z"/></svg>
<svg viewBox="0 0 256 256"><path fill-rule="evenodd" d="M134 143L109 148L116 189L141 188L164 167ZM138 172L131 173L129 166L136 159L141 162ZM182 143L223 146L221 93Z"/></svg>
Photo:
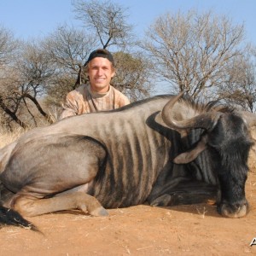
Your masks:
<svg viewBox="0 0 256 256"><path fill-rule="evenodd" d="M138 36L166 12L211 9L217 15L227 15L234 24L244 23L247 40L256 45L255 0L113 0L113 3L129 8L128 21L135 26ZM0 0L0 25L14 32L16 38L44 38L65 22L81 24L74 19L72 0ZM162 84L157 93L166 93L166 88Z"/></svg>

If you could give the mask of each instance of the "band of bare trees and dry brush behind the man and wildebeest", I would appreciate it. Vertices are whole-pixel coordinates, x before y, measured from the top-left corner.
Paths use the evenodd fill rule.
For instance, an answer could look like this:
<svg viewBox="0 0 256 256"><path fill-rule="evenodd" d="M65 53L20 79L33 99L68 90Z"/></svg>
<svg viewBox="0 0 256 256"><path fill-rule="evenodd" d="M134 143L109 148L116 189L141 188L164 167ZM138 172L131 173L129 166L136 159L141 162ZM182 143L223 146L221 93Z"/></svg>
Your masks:
<svg viewBox="0 0 256 256"><path fill-rule="evenodd" d="M49 125L68 91L87 83L84 65L93 49L113 52L113 85L131 102L186 90L200 100L221 100L255 111L255 46L242 24L212 11L166 10L143 35L128 22L129 8L112 1L73 1L80 26L58 26L40 39L21 41L0 26L0 122L3 131Z"/></svg>

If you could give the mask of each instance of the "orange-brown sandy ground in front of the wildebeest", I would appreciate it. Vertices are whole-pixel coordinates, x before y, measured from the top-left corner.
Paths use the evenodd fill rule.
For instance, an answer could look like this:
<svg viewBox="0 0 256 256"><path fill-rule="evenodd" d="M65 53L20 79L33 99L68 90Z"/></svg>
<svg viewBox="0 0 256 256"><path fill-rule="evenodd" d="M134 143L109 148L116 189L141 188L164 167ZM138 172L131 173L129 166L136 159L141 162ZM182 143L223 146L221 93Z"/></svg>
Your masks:
<svg viewBox="0 0 256 256"><path fill-rule="evenodd" d="M222 218L211 204L137 206L95 218L79 211L30 218L44 233L0 230L0 255L256 255L256 172L247 179L246 218Z"/></svg>

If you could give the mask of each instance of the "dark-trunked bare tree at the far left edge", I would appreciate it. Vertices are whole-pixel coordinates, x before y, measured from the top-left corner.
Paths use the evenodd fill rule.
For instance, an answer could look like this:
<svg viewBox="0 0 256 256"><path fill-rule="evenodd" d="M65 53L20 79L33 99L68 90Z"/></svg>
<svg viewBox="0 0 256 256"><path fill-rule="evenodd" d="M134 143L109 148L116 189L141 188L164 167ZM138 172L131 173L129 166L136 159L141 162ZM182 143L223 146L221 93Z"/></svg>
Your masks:
<svg viewBox="0 0 256 256"><path fill-rule="evenodd" d="M12 120L23 128L37 126L40 116L49 123L53 121L39 97L54 73L52 63L37 44L22 45L20 55L15 56L12 67L5 69L1 81L0 108L10 118L9 124Z"/></svg>

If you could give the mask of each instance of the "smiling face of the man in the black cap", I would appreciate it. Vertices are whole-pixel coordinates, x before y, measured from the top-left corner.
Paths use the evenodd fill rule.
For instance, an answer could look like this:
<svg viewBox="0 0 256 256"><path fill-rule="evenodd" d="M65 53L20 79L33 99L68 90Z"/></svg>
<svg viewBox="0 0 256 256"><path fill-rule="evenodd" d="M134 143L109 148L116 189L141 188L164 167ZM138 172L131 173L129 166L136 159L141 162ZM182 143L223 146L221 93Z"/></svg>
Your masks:
<svg viewBox="0 0 256 256"><path fill-rule="evenodd" d="M88 76L91 90L101 93L107 92L113 75L113 67L108 59L96 57L90 61Z"/></svg>

